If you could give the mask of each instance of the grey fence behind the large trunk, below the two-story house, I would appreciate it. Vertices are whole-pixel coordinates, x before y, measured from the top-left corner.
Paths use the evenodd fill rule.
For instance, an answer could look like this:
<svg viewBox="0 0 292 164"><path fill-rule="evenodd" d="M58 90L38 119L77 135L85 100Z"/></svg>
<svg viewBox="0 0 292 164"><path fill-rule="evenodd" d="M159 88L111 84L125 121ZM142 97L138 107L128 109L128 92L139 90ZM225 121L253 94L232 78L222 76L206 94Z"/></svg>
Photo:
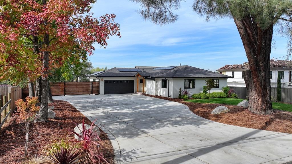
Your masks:
<svg viewBox="0 0 292 164"><path fill-rule="evenodd" d="M246 99L247 89L246 87L230 87L234 90L234 93L238 95L240 99ZM292 103L292 88L281 88L281 102ZM271 88L271 95L277 99L277 88Z"/></svg>

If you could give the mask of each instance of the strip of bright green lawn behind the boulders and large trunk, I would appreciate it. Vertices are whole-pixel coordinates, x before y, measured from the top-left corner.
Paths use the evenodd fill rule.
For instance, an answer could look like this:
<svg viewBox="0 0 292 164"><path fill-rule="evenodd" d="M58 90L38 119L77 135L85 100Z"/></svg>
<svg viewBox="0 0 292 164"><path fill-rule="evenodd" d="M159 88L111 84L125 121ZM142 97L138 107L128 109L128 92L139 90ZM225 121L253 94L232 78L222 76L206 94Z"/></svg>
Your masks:
<svg viewBox="0 0 292 164"><path fill-rule="evenodd" d="M210 103L211 104L237 105L242 100L243 99L215 98L215 99L210 99ZM209 99L191 99L191 100L186 100L186 101L197 102L197 103L209 103ZM272 102L272 106L274 109L292 112L292 104L285 104L285 103L281 103L281 102Z"/></svg>

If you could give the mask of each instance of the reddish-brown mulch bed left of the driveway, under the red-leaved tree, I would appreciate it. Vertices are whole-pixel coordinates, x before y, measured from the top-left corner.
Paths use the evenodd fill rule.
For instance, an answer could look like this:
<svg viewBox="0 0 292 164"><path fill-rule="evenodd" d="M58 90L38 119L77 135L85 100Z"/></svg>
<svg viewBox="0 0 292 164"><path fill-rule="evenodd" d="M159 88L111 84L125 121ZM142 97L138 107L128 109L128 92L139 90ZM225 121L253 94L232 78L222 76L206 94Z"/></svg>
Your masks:
<svg viewBox="0 0 292 164"><path fill-rule="evenodd" d="M56 113L55 119L49 119L49 122L34 123L30 127L30 147L28 148L28 156L39 156L43 148L49 143L50 137L65 138L70 130L74 130L74 123L82 123L84 115L75 109L66 101L54 100ZM90 125L91 121L85 117L85 123ZM69 135L73 139L74 135ZM106 160L114 163L114 150L107 135L102 132L100 138L102 142L102 152ZM25 132L19 123L16 123L15 116L11 117L2 127L0 132L0 163L16 164L24 160Z"/></svg>

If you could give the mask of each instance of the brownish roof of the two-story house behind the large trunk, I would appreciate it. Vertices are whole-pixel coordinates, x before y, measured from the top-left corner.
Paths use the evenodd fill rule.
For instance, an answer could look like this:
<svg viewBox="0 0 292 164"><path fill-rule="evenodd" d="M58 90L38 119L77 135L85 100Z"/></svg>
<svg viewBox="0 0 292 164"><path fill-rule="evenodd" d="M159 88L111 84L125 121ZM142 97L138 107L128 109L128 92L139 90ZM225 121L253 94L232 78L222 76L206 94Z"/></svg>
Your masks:
<svg viewBox="0 0 292 164"><path fill-rule="evenodd" d="M270 60L270 67L271 69L276 68L292 68L292 60ZM244 62L243 64L233 64L233 65L225 65L217 69L217 71L222 70L248 70L249 64L248 62Z"/></svg>

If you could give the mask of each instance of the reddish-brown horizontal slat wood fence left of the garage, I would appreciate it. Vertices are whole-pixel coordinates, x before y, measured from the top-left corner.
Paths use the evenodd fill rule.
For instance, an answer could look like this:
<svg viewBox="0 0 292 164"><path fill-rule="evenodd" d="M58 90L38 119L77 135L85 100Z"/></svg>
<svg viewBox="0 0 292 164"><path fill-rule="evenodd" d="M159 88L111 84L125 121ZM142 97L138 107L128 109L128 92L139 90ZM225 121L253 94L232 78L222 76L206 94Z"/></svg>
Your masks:
<svg viewBox="0 0 292 164"><path fill-rule="evenodd" d="M52 96L65 95L97 95L99 94L98 81L56 82L50 83ZM22 98L29 96L28 88L22 89Z"/></svg>

